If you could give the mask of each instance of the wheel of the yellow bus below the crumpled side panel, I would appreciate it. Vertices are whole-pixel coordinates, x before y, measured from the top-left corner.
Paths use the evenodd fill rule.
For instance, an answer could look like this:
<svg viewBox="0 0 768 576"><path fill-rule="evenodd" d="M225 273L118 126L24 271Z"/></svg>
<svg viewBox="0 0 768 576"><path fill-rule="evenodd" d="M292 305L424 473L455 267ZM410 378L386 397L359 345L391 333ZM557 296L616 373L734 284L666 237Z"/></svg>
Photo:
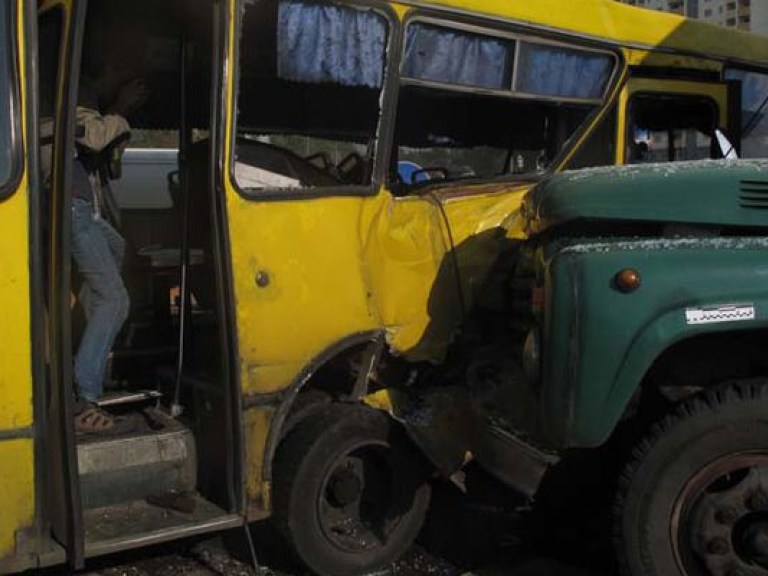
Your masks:
<svg viewBox="0 0 768 576"><path fill-rule="evenodd" d="M297 423L278 447L278 530L298 560L321 576L383 568L424 523L428 477L424 458L388 415L332 404Z"/></svg>

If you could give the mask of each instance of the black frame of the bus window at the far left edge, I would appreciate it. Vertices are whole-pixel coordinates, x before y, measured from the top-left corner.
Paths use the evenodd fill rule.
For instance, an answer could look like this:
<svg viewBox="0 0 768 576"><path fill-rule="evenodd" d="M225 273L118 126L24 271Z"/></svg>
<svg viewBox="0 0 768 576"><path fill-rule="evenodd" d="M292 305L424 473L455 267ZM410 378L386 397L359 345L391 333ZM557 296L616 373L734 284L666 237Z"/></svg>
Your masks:
<svg viewBox="0 0 768 576"><path fill-rule="evenodd" d="M5 55L0 54L0 58L5 58L5 76L9 87L8 102L8 126L10 132L10 171L5 182L0 182L0 202L13 196L19 188L19 182L23 173L23 145L21 139L21 93L19 75L19 50L18 50L18 31L16 22L18 20L18 7L16 2L6 2L4 22L0 26L7 26L9 44ZM3 103L4 104L4 103Z"/></svg>

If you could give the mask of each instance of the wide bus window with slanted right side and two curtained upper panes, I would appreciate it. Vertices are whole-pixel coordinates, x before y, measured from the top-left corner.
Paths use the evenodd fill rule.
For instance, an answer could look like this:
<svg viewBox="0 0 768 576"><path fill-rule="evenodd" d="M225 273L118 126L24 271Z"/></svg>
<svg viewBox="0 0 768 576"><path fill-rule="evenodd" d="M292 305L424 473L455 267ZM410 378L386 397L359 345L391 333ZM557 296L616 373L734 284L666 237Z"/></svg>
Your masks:
<svg viewBox="0 0 768 576"><path fill-rule="evenodd" d="M548 171L602 105L615 58L416 21L406 30L395 188Z"/></svg>

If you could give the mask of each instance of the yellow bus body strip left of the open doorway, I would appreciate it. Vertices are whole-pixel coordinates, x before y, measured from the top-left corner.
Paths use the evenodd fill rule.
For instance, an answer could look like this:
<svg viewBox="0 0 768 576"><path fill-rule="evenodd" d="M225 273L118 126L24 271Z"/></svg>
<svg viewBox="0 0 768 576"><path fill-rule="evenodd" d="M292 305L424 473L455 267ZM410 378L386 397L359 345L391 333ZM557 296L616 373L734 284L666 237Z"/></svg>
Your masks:
<svg viewBox="0 0 768 576"><path fill-rule="evenodd" d="M22 2L16 37L24 61ZM24 85L24 67L20 67ZM22 95L20 118L24 114ZM26 127L22 125L22 143ZM17 535L35 519L34 443L31 438L32 350L29 276L29 185L24 166L16 190L0 200L0 564L15 554Z"/></svg>

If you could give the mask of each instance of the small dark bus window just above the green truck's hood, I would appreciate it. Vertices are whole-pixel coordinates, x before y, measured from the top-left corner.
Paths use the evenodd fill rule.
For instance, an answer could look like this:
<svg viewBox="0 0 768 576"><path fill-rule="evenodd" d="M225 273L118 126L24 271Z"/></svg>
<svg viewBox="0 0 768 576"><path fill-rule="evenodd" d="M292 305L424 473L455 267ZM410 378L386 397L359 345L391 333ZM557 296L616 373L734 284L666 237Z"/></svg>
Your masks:
<svg viewBox="0 0 768 576"><path fill-rule="evenodd" d="M713 153L718 109L702 96L638 94L629 104L628 164L720 157Z"/></svg>

